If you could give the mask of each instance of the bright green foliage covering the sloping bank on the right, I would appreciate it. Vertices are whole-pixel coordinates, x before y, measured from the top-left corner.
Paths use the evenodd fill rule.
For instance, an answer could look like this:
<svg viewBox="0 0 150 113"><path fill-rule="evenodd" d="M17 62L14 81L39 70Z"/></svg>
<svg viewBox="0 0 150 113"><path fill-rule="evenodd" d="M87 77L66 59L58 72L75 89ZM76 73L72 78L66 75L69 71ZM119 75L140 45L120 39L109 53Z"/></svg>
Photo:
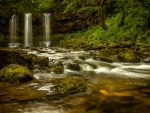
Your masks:
<svg viewBox="0 0 150 113"><path fill-rule="evenodd" d="M131 40L137 37L136 43L150 42L149 28L147 27L146 18L148 10L144 9L140 2L122 3L125 4L125 19L124 25L120 26L122 18L122 10L113 14L106 20L107 30L103 30L101 25L91 26L86 31L71 33L65 35L65 41L61 41L62 45L71 45L76 48L76 45L84 43L88 46L100 47L104 45L112 45L114 43ZM139 10L141 8L141 10ZM145 16L144 16L145 15ZM82 47L82 46L81 46Z"/></svg>

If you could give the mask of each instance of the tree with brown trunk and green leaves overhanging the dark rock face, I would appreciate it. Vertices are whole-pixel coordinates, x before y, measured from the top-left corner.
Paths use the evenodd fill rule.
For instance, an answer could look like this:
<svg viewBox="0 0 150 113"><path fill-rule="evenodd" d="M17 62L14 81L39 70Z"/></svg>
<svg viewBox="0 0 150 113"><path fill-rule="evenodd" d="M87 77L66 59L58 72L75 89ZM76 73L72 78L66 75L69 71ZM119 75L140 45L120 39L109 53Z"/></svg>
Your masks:
<svg viewBox="0 0 150 113"><path fill-rule="evenodd" d="M97 12L100 14L100 22L102 27L106 30L107 26L105 24L105 4L106 0L63 0L63 4L66 5L64 12L69 11L89 11L89 12ZM99 4L99 5L98 5Z"/></svg>

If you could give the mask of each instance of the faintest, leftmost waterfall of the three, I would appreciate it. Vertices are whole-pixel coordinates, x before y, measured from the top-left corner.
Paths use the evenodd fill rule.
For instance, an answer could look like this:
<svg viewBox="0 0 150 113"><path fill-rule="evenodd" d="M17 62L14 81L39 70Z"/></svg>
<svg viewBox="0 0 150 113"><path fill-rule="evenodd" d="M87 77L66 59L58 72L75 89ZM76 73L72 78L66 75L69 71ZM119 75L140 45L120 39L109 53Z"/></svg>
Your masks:
<svg viewBox="0 0 150 113"><path fill-rule="evenodd" d="M19 43L17 42L17 15L12 15L9 28L10 28L10 43L9 47L18 47Z"/></svg>

